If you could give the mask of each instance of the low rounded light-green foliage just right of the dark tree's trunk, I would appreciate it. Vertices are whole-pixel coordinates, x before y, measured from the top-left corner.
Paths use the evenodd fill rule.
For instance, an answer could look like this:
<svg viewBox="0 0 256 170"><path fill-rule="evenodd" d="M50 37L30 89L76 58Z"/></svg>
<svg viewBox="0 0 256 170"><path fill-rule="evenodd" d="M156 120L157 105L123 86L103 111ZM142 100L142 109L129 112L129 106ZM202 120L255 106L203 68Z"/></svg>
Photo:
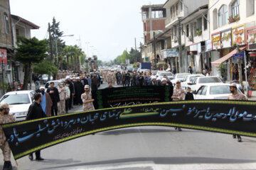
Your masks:
<svg viewBox="0 0 256 170"><path fill-rule="evenodd" d="M37 74L52 74L58 72L58 69L52 62L43 60L42 62L33 64L33 72Z"/></svg>

